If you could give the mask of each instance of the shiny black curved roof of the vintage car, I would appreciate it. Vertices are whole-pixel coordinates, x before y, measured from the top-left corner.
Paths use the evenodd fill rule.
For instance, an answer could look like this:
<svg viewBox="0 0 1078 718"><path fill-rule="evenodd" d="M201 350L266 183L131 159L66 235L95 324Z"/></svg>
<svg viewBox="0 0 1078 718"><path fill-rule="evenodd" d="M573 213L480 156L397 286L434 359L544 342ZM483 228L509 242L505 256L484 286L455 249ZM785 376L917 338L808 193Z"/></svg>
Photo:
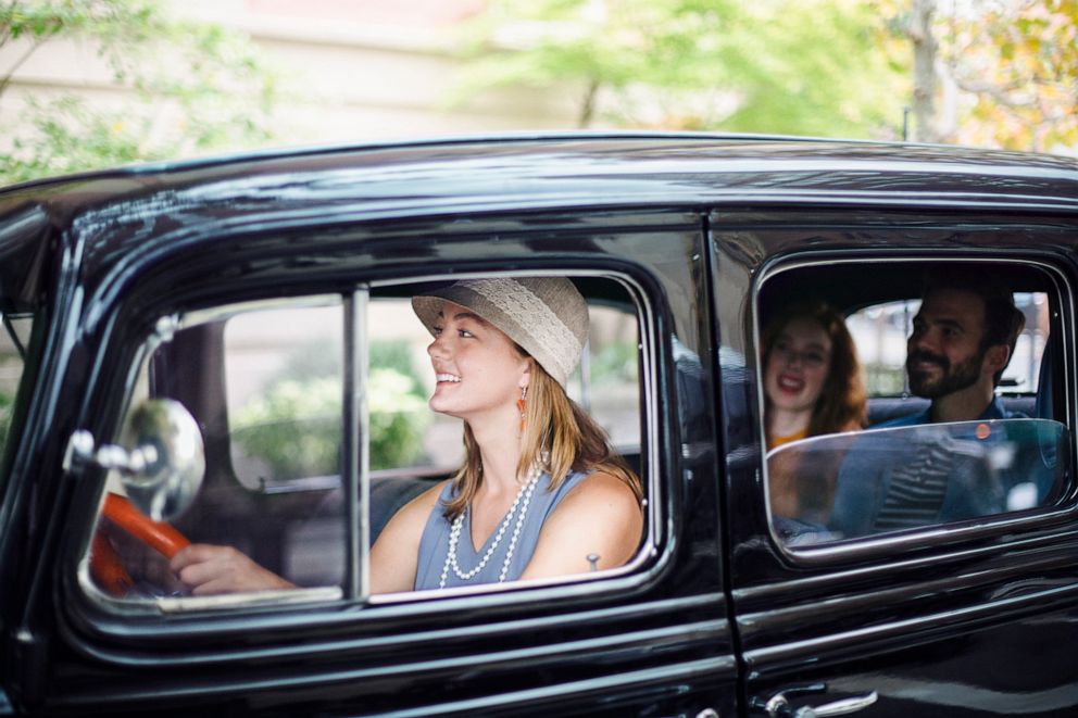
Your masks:
<svg viewBox="0 0 1078 718"><path fill-rule="evenodd" d="M1078 161L954 147L572 133L288 149L134 165L0 190L0 299L28 306L47 247L116 257L181 232L623 207L1021 209L1078 213ZM171 234L170 234L171 232ZM54 241L53 241L54 240ZM97 250L95 252L95 249Z"/></svg>

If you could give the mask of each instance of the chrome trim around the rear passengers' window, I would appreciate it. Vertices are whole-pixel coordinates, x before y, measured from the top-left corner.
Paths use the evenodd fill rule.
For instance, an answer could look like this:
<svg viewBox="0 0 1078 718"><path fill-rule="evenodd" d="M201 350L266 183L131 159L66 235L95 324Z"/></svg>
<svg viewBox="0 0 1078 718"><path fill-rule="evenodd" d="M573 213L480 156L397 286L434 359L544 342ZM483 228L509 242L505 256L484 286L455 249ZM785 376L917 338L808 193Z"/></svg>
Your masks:
<svg viewBox="0 0 1078 718"><path fill-rule="evenodd" d="M1071 366L1071 362L1074 361L1070 356L1071 344L1075 341L1076 336L1073 310L1075 292L1067 275L1057 266L1056 263L1036 259L1033 252L1028 252L1024 255L1016 253L1014 256L986 257L977 254L963 254L961 251L953 250L940 251L937 256L925 256L925 252L927 251L930 250L922 249L880 256L878 253L865 252L864 250L835 250L833 252L828 252L828 259L826 260L818 259L818 256L811 260L802 260L801 257L803 254L795 253L776 260L775 265L765 266L760 273L760 277L753 285L752 301L750 304L752 312L751 326L753 348L751 353L753 356L752 361L755 365L753 378L755 379L757 387L756 411L759 412L760 417L759 441L761 445L761 463L757 467L761 480L757 483L762 487L762 494L760 495L764 505L765 515L767 517L767 531L772 538L772 542L778 549L779 553L791 562L808 566L824 566L847 559L895 554L908 549L938 545L941 542L952 543L955 541L977 539L985 536L1006 533L1008 531L1021 530L1027 527L1039 526L1044 522L1066 520L1068 518L1074 518L1075 515L1078 515L1078 502L1075 501L1076 494L1078 494L1078 464L1076 464L1075 457L1078 455L1078 452L1076 452L1076 432L1074 430L1076 426L1075 398L1073 388L1074 376L1073 370L1067 369L1064 371L1064 377L1055 378L1056 381L1062 380L1064 382L1063 394L1066 399L1066 406L1064 407L1064 415L1066 417L1065 425L1070 430L1071 450L1071 483L1061 499L1060 504L1027 509L1021 513L993 514L990 516L952 524L932 524L922 528L904 529L902 531L894 531L890 533L842 539L830 543L790 546L777 536L775 531L774 517L772 515L767 463L764 458L766 452L763 451L763 442L765 437L765 427L763 426L763 421L766 399L764 396L764 367L761 361L762 357L760 356L760 350L762 348L762 327L760 326L759 311L761 290L767 285L767 281L775 276L791 270L804 269L806 267L824 265L830 266L836 264L858 264L867 262L870 262L873 265L898 263L930 263L933 265L941 263L963 263L1012 266L1025 265L1036 267L1051 280L1052 290L1054 293L1053 299L1058 299L1058 307L1056 311L1060 316L1057 322L1061 329L1061 335L1064 337L1064 341L1062 342L1063 347L1057 349L1057 351L1063 352L1062 356L1064 367ZM818 254L818 252L816 254Z"/></svg>

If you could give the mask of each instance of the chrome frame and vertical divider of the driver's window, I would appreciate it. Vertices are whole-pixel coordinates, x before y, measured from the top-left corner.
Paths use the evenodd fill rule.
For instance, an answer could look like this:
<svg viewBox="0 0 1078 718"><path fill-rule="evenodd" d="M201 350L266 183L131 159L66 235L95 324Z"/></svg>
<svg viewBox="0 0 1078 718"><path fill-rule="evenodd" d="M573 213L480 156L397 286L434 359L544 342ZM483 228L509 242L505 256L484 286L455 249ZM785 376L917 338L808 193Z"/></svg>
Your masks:
<svg viewBox="0 0 1078 718"><path fill-rule="evenodd" d="M606 569L594 576L575 574L563 577L552 577L543 580L527 582L513 581L504 584L478 584L419 592L403 592L374 595L369 592L369 551L371 551L371 469L369 469L369 407L365 389L365 378L369 374L369 341L367 332L368 308L371 293L378 289L421 285L423 282L439 282L449 279L465 279L479 277L512 277L512 276L561 276L601 278L617 282L624 289L627 300L632 302L632 316L636 320L638 348L638 392L640 417L640 479L644 489L644 532L640 547L634 558L618 568ZM587 297L585 298L588 299ZM591 302L589 302L591 304ZM287 620L290 608L309 608L328 604L333 609L341 610L350 607L376 607L383 605L400 605L403 603L427 603L444 601L454 597L468 597L499 593L519 592L527 590L526 595L534 595L536 589L554 588L567 589L566 595L581 593L609 593L619 590L622 580L629 579L634 583L645 581L650 571L642 569L657 553L661 543L661 530L664 519L664 494L660 482L657 468L660 434L657 430L657 364L660 356L659 337L655 329L655 311L649 293L643 286L630 274L602 268L598 265L587 269L552 269L552 268L518 268L511 272L488 270L474 273L454 273L444 275L414 275L393 277L373 281L353 282L348 291L321 291L289 297L270 297L233 303L224 303L208 308L195 308L187 312L175 312L162 315L153 324L153 330L131 353L131 363L126 367L125 395L120 406L117 426L111 436L120 432L124 417L134 401L137 379L143 371L154 350L172 333L179 329L201 326L214 322L227 320L240 314L274 308L302 308L340 305L342 312L342 454L341 482L347 501L346 529L346 565L342 584L337 587L301 588L289 591L271 591L265 593L240 593L215 596L178 596L155 597L147 601L129 601L124 597L110 596L101 591L89 571L89 543L92 540L96 521L91 521L91 531L85 537L84 547L79 554L77 567L77 583L79 593L98 607L105 609L114 619L128 620L137 618L197 618L205 612L212 612L215 619L245 615L250 610L265 612L280 608L277 619ZM224 356L222 356L224 361ZM356 431L362 437L355 441ZM104 500L104 477L97 514ZM523 599L522 599L523 600Z"/></svg>

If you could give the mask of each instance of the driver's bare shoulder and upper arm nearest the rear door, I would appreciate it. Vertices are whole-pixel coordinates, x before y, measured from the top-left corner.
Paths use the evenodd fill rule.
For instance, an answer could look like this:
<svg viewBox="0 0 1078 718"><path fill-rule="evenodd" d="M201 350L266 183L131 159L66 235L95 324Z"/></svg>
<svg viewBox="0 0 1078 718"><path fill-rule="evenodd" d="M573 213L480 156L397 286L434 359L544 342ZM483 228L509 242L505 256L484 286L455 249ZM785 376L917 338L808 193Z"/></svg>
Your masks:
<svg viewBox="0 0 1078 718"><path fill-rule="evenodd" d="M615 476L596 473L562 500L539 532L522 580L624 565L640 545L643 513L632 490Z"/></svg>

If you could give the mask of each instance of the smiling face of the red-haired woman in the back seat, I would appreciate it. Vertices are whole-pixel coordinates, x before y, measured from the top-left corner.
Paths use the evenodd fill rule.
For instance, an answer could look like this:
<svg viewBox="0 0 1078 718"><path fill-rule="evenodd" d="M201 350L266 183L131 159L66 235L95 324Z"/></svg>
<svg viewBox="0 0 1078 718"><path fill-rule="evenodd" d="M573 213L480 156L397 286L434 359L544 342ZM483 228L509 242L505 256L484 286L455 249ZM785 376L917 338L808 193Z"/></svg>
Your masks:
<svg viewBox="0 0 1078 718"><path fill-rule="evenodd" d="M768 403L788 411L812 411L831 366L831 340L818 323L791 319L775 339L764 373Z"/></svg>

